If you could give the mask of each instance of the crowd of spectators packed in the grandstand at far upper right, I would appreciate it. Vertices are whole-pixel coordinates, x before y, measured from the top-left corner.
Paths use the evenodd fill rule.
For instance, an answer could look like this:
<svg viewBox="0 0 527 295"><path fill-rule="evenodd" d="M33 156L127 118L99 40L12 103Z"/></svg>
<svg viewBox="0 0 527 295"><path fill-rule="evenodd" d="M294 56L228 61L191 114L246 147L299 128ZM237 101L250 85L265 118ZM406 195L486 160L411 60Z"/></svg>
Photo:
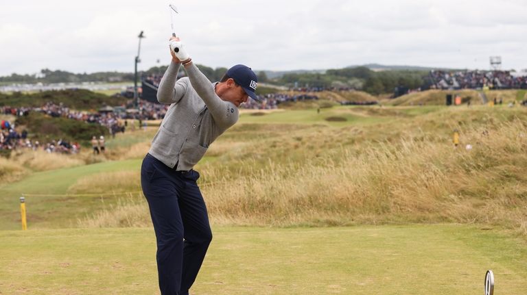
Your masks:
<svg viewBox="0 0 527 295"><path fill-rule="evenodd" d="M431 70L430 77L437 89L527 88L527 76L512 75L504 70Z"/></svg>

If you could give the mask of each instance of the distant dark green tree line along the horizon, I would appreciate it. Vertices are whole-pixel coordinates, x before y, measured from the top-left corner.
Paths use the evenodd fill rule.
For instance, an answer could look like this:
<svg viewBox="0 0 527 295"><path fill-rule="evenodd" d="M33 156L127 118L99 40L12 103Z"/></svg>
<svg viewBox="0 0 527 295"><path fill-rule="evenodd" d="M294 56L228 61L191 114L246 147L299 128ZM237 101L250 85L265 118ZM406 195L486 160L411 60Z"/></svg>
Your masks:
<svg viewBox="0 0 527 295"><path fill-rule="evenodd" d="M163 75L167 66L154 66L148 70L141 71L141 75ZM227 68L211 68L198 64L198 68L211 81L220 81ZM183 69L182 69L183 70ZM428 70L382 70L374 71L365 66L330 69L325 73L288 73L281 77L268 79L266 73L257 73L260 83L270 83L277 86L288 86L290 88L351 88L363 90L373 95L393 93L395 88L428 89L432 84ZM47 68L36 75L19 75L13 73L10 76L0 77L0 82L11 83L65 83L65 82L132 82L133 73L98 72L91 74L75 74L64 70L49 70Z"/></svg>

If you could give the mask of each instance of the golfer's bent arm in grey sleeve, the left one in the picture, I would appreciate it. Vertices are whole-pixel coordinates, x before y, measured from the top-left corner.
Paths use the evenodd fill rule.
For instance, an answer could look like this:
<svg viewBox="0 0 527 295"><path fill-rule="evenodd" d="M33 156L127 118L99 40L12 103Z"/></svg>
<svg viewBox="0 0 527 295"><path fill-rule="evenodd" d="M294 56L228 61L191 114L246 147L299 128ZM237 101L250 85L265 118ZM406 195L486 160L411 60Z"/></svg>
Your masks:
<svg viewBox="0 0 527 295"><path fill-rule="evenodd" d="M178 79L180 63L170 62L157 90L157 101L167 105L177 103L187 92L187 84Z"/></svg>

